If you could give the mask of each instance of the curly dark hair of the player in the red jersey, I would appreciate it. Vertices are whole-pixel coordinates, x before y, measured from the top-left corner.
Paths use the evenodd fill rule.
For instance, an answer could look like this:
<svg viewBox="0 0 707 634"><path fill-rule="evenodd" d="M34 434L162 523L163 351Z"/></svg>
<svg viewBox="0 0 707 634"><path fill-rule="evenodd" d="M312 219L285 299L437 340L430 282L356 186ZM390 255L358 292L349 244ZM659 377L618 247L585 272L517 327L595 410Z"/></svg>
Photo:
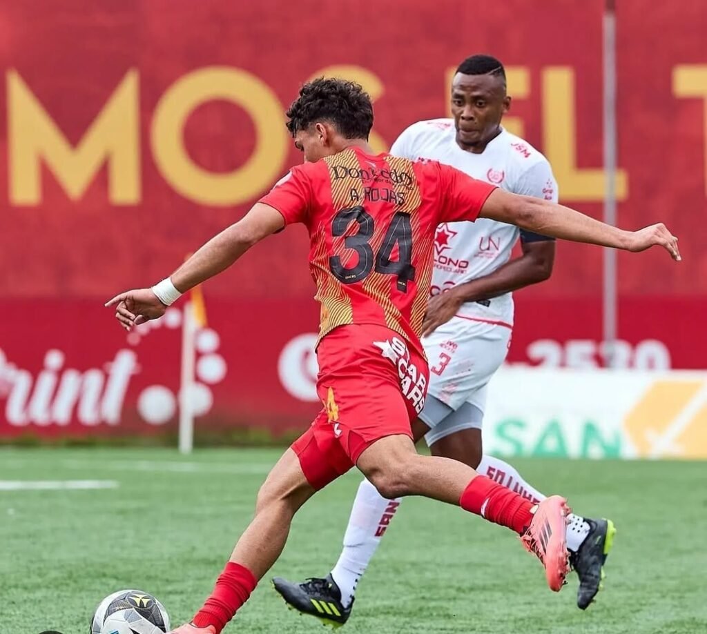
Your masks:
<svg viewBox="0 0 707 634"><path fill-rule="evenodd" d="M360 84L319 77L300 88L286 112L292 136L317 122L333 124L346 139L366 139L373 127L373 105Z"/></svg>

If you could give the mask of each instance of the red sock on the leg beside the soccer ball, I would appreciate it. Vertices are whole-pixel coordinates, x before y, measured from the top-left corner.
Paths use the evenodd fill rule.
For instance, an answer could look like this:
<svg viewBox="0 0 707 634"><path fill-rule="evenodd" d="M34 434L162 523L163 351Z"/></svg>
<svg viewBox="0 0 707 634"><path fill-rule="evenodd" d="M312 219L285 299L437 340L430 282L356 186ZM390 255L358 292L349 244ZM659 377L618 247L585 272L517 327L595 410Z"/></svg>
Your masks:
<svg viewBox="0 0 707 634"><path fill-rule="evenodd" d="M229 561L216 580L214 592L204 601L204 605L192 618L192 623L197 628L214 626L216 634L221 634L226 623L248 600L257 583L253 573L245 566Z"/></svg>

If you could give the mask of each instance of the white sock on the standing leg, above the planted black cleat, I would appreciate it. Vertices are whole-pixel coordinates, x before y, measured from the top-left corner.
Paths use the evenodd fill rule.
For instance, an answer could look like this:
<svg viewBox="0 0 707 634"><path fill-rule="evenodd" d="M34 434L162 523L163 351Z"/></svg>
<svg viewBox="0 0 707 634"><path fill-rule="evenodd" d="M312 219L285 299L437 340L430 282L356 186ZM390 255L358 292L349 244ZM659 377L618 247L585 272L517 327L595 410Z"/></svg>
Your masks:
<svg viewBox="0 0 707 634"><path fill-rule="evenodd" d="M341 590L341 603L348 606L356 594L356 585L368 568L368 563L380 544L380 538L400 505L397 500L386 500L375 486L364 479L351 507L349 525L344 534L344 549L332 577Z"/></svg>

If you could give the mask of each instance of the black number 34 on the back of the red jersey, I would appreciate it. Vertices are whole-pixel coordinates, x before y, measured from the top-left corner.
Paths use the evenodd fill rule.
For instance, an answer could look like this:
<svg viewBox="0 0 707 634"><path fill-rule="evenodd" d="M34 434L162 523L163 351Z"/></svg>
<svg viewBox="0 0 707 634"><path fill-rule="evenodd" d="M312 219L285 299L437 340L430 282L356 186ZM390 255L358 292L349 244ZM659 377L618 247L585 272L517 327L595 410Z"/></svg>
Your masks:
<svg viewBox="0 0 707 634"><path fill-rule="evenodd" d="M329 267L334 276L344 284L354 284L365 280L370 271L386 275L397 275L397 288L407 293L407 283L415 279L412 259L412 228L408 213L397 211L390 221L378 253L373 255L370 239L375 233L375 223L362 206L341 209L332 221L332 235L340 237L346 233L351 223L358 223L358 232L344 237L344 247L358 254L358 263L346 267L341 257L329 257ZM398 247L398 259L392 262L390 255Z"/></svg>

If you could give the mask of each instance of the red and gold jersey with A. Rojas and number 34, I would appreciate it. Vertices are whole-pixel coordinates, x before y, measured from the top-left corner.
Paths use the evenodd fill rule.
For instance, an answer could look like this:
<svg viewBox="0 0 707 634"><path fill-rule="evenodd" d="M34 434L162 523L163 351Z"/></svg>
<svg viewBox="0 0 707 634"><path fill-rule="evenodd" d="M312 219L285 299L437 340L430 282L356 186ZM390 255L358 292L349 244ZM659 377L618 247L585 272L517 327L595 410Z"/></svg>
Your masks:
<svg viewBox="0 0 707 634"><path fill-rule="evenodd" d="M421 351L437 225L474 221L493 189L436 161L349 148L292 168L260 202L309 230L320 339L379 324Z"/></svg>

